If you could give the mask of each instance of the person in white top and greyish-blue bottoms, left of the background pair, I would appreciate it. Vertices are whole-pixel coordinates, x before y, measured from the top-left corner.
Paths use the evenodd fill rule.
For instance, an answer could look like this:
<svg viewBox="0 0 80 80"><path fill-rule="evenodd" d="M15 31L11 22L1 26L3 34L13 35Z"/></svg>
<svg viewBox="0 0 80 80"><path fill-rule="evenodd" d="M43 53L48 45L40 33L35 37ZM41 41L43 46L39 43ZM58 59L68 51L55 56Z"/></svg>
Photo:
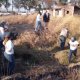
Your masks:
<svg viewBox="0 0 80 80"><path fill-rule="evenodd" d="M35 26L35 32L42 30L42 23L41 23L41 12L38 13L36 17L36 26Z"/></svg>

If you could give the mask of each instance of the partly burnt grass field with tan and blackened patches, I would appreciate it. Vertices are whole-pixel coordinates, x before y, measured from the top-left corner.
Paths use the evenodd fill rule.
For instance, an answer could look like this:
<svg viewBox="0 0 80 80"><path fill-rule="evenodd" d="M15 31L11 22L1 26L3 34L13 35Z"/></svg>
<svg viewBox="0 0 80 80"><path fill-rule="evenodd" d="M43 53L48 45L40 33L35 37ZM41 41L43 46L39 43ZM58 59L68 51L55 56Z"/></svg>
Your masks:
<svg viewBox="0 0 80 80"><path fill-rule="evenodd" d="M80 79L80 49L78 49L77 62L69 64L69 49L66 47L61 51L57 44L60 30L64 26L69 29L66 46L71 36L76 36L80 42L80 16L51 17L48 30L43 31L40 36L34 32L36 14L1 16L0 20L7 21L10 30L15 28L19 34L18 38L14 40L16 68L15 74L12 76L31 78L30 80Z"/></svg>

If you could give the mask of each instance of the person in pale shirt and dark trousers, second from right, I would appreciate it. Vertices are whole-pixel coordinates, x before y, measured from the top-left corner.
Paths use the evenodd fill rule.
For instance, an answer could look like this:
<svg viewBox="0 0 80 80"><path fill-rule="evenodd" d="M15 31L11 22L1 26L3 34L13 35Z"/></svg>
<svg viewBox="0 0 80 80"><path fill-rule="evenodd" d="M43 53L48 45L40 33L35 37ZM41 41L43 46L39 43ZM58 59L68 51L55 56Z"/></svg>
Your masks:
<svg viewBox="0 0 80 80"><path fill-rule="evenodd" d="M67 27L63 27L59 36L59 44L60 48L63 50L66 42L66 38L68 37L69 31Z"/></svg>

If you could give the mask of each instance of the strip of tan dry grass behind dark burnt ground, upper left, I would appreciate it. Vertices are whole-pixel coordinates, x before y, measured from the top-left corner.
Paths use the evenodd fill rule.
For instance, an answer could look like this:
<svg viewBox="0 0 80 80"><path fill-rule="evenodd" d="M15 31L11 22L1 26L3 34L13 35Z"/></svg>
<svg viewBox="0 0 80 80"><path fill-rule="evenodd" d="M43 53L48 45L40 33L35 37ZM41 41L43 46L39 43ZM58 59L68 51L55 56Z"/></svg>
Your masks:
<svg viewBox="0 0 80 80"><path fill-rule="evenodd" d="M1 16L1 20L9 22L9 24L23 24L23 23L33 23L35 21L36 14L32 15L10 15L10 16Z"/></svg>

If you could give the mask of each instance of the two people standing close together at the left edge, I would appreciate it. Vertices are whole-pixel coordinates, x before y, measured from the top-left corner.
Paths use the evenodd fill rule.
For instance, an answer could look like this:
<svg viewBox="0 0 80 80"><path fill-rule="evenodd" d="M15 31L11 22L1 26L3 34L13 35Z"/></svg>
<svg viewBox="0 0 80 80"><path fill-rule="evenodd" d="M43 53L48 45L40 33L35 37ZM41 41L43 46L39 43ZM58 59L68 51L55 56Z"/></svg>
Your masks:
<svg viewBox="0 0 80 80"><path fill-rule="evenodd" d="M6 21L0 23L0 54L2 55L0 65L1 75L11 75L14 70L14 45L10 37L10 31Z"/></svg>

